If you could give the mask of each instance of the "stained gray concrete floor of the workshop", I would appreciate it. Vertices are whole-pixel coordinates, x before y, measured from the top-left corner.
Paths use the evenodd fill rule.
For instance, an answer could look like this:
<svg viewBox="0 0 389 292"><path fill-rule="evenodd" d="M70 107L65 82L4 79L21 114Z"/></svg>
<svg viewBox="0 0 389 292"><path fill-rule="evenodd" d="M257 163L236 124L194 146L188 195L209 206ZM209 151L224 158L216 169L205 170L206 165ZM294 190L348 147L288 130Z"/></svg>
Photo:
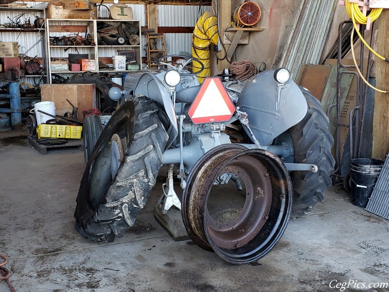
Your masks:
<svg viewBox="0 0 389 292"><path fill-rule="evenodd" d="M340 188L327 191L312 214L292 219L258 263L234 266L190 240L172 240L159 226L151 210L160 182L124 238L98 243L81 237L73 211L83 152L42 155L25 136L0 133L0 254L8 258L18 292L342 291L329 287L333 280L332 287L354 281L348 292L389 291L356 286L389 282L389 221L352 205ZM9 289L0 281L3 291Z"/></svg>

